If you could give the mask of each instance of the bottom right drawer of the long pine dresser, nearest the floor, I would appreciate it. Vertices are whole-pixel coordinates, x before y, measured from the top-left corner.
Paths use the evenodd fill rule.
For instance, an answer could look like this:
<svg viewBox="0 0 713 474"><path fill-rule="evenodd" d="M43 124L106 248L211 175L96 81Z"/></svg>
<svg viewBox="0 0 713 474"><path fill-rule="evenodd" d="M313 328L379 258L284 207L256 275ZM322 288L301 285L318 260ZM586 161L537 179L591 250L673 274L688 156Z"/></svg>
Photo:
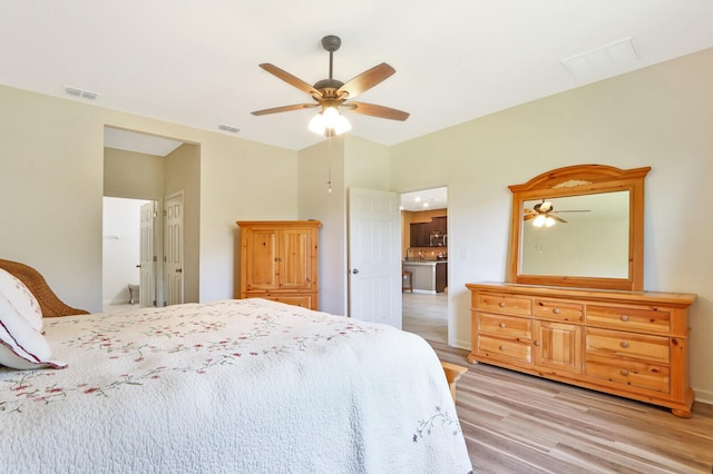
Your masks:
<svg viewBox="0 0 713 474"><path fill-rule="evenodd" d="M671 387L668 367L634 361L616 361L605 357L588 357L585 373L589 377L668 393Z"/></svg>

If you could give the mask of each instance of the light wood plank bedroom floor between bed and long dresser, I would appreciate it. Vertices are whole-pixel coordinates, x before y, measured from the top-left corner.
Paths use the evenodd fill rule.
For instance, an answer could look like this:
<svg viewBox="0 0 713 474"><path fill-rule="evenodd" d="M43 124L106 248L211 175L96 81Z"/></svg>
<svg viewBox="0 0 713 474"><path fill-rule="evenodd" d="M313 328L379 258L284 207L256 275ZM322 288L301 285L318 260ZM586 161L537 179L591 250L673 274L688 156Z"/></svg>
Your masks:
<svg viewBox="0 0 713 474"><path fill-rule="evenodd" d="M476 473L713 473L713 406L691 418L486 364L463 365L456 406Z"/></svg>

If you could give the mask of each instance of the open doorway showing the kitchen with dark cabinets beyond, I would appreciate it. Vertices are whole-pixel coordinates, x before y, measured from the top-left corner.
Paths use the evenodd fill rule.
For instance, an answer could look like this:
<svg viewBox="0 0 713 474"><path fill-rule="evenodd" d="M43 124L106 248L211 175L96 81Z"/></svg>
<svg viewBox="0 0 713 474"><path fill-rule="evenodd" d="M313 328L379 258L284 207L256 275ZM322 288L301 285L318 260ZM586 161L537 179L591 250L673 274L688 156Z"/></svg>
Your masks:
<svg viewBox="0 0 713 474"><path fill-rule="evenodd" d="M403 330L448 344L448 188L401 195Z"/></svg>

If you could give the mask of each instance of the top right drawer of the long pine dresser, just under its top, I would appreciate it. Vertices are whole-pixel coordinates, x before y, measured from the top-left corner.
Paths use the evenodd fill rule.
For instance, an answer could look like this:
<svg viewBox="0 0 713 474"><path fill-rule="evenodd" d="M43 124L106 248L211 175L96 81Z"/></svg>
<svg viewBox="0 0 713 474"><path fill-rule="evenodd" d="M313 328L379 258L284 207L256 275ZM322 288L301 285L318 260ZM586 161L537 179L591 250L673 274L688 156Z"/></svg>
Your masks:
<svg viewBox="0 0 713 474"><path fill-rule="evenodd" d="M668 334L671 313L656 309L587 306L587 325L642 333Z"/></svg>

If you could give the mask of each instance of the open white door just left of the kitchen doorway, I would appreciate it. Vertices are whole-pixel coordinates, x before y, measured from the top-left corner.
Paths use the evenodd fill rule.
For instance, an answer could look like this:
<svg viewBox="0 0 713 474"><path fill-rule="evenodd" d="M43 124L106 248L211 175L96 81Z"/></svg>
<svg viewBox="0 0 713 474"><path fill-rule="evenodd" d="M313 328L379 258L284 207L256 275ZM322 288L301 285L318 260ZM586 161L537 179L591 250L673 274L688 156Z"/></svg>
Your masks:
<svg viewBox="0 0 713 474"><path fill-rule="evenodd" d="M401 329L401 228L395 192L349 189L349 316Z"/></svg>

